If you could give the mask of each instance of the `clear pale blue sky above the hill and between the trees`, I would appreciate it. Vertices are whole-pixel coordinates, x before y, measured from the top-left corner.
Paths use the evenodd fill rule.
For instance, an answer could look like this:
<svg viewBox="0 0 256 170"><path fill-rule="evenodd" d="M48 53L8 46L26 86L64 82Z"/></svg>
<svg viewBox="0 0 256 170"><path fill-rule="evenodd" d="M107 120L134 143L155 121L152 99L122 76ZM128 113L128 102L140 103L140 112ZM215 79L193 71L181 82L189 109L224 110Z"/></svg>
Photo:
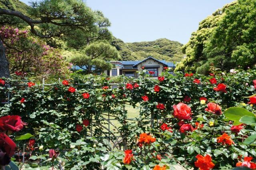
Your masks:
<svg viewBox="0 0 256 170"><path fill-rule="evenodd" d="M30 0L21 0L28 3ZM206 16L233 0L86 0L112 23L110 31L124 42L159 38L187 43Z"/></svg>

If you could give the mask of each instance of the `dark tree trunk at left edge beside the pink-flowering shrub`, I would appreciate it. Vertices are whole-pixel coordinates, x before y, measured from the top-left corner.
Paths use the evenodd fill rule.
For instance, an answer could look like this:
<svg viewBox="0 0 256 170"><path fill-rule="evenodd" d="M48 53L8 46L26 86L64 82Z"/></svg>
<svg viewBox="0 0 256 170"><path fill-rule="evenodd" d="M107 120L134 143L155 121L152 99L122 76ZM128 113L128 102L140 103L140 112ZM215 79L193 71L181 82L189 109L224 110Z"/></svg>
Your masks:
<svg viewBox="0 0 256 170"><path fill-rule="evenodd" d="M0 40L0 77L10 77L9 62L5 55L5 47L3 42Z"/></svg>

